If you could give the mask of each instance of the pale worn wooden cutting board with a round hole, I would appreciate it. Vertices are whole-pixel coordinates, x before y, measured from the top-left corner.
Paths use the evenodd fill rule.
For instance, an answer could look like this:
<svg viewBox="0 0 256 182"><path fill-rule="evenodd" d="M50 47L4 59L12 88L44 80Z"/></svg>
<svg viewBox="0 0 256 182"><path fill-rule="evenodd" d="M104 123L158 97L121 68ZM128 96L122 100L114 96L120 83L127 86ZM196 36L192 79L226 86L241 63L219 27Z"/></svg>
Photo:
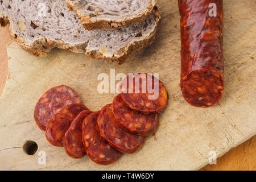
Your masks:
<svg viewBox="0 0 256 182"><path fill-rule="evenodd" d="M224 1L225 92L214 107L193 107L183 100L180 79L180 28L177 1L159 1L163 11L156 41L118 66L83 54L54 49L36 58L12 42L7 47L9 79L0 97L0 169L176 170L199 169L212 154L225 154L256 133L255 40L256 2ZM91 110L100 110L117 94L100 94L100 73L159 73L170 100L160 113L160 127L147 137L142 150L125 154L115 164L98 166L85 156L71 159L63 147L53 147L33 118L34 107L46 90L65 84L76 89ZM118 81L116 81L117 83ZM35 155L23 151L26 140L38 144ZM38 159L46 154L46 164Z"/></svg>

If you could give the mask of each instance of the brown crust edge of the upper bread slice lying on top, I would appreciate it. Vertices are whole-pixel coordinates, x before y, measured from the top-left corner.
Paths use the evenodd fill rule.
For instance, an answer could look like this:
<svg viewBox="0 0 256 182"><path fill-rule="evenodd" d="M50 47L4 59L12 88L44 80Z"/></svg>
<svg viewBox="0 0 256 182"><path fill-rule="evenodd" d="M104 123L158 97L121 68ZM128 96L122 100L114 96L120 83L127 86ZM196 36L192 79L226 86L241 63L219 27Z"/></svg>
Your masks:
<svg viewBox="0 0 256 182"><path fill-rule="evenodd" d="M138 24L143 22L149 15L151 15L154 7L156 5L156 0L151 0L151 2L147 5L147 9L142 13L136 16L126 16L122 20L106 20L102 19L98 16L88 17L89 15L79 14L78 11L71 6L69 3L71 0L66 0L67 7L69 10L74 11L79 19L81 20L82 26L84 26L85 30L114 30L115 28L122 28L130 26L131 24Z"/></svg>

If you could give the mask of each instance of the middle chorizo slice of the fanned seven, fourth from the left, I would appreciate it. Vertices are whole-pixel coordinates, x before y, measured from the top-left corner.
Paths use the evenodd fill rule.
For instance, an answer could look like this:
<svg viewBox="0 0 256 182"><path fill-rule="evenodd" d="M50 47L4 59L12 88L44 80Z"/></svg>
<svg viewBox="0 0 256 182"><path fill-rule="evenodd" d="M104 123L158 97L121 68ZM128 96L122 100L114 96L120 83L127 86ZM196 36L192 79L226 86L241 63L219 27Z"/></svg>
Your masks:
<svg viewBox="0 0 256 182"><path fill-rule="evenodd" d="M110 147L109 143L100 135L98 129L98 115L100 111L90 114L82 124L82 139L89 158L97 164L109 165L121 158L122 153Z"/></svg>

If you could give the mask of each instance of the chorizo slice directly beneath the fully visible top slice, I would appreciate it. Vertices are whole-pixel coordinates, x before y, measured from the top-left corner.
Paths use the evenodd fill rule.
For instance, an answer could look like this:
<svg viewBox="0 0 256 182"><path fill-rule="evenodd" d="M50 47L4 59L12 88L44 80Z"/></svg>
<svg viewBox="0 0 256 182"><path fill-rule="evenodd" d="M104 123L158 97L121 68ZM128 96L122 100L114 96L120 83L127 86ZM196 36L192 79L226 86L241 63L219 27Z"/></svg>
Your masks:
<svg viewBox="0 0 256 182"><path fill-rule="evenodd" d="M112 110L120 125L132 134L147 136L156 131L159 126L157 113L144 114L131 109L121 94L113 100Z"/></svg>

